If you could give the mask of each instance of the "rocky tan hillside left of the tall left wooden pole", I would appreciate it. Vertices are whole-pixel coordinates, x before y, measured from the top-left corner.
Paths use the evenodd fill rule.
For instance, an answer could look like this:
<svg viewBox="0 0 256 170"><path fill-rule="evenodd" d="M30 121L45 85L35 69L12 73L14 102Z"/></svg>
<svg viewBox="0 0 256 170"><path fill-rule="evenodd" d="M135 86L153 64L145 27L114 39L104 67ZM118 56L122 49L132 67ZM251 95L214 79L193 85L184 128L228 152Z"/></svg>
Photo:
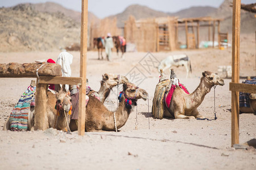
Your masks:
<svg viewBox="0 0 256 170"><path fill-rule="evenodd" d="M0 52L52 50L80 42L80 23L30 5L0 8Z"/></svg>

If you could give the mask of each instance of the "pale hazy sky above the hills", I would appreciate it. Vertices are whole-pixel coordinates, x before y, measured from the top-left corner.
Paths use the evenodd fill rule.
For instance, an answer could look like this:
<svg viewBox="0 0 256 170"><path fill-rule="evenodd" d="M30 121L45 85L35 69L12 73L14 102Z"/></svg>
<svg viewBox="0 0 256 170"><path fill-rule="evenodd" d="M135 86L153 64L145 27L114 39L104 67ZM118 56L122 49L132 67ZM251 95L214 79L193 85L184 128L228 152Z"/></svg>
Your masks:
<svg viewBox="0 0 256 170"><path fill-rule="evenodd" d="M163 12L177 12L192 6L219 7L224 0L88 0L88 10L98 18L121 13L132 4L139 4ZM81 0L0 0L0 7L11 7L19 3L55 2L62 6L81 11ZM255 0L241 0L241 3L255 3Z"/></svg>

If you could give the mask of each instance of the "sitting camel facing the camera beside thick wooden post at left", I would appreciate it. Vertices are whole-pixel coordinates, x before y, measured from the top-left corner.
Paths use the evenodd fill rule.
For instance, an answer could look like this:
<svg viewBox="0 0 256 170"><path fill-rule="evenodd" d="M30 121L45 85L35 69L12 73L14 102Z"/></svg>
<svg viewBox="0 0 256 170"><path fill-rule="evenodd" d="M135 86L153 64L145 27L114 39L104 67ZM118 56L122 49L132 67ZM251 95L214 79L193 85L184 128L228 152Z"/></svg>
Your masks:
<svg viewBox="0 0 256 170"><path fill-rule="evenodd" d="M47 128L56 128L57 130L67 131L69 125L68 113L71 113L71 97L69 92L62 90L56 94L47 92L46 120L44 125ZM56 109L55 109L56 107ZM31 107L28 113L28 130L34 130L35 108ZM3 130L11 130L9 118L6 120Z"/></svg>

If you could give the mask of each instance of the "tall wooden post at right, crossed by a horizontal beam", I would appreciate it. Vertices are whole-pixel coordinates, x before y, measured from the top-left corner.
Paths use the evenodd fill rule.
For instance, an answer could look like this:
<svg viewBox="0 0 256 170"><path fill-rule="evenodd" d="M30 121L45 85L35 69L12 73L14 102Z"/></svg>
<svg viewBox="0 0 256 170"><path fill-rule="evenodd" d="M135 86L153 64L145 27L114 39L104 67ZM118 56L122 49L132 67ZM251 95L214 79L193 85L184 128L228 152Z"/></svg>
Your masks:
<svg viewBox="0 0 256 170"><path fill-rule="evenodd" d="M232 82L239 83L240 76L240 11L241 0L233 0L232 26ZM231 145L239 143L239 92L232 91L231 96Z"/></svg>

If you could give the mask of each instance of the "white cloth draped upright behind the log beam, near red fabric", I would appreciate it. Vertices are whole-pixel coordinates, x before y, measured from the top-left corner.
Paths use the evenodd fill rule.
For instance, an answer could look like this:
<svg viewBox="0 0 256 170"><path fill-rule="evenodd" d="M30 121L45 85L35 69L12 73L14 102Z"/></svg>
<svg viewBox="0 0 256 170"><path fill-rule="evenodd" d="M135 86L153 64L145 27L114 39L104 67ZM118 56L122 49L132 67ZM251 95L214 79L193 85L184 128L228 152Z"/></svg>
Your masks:
<svg viewBox="0 0 256 170"><path fill-rule="evenodd" d="M57 62L59 65L61 65L61 72L62 76L71 76L71 67L73 56L72 54L69 54L68 52L61 52L57 58ZM65 90L68 91L69 85L65 85Z"/></svg>

